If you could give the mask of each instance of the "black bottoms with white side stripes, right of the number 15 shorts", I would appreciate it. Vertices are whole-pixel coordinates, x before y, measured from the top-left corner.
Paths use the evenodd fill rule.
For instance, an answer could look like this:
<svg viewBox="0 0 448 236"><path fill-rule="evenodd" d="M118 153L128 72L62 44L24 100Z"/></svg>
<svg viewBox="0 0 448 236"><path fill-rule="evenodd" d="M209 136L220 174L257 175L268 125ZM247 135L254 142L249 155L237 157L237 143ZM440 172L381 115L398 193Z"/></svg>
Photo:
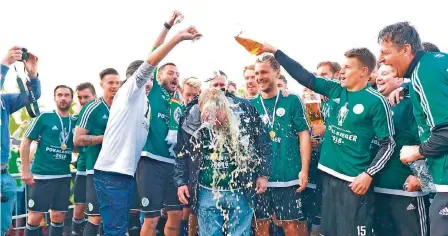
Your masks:
<svg viewBox="0 0 448 236"><path fill-rule="evenodd" d="M376 235L422 235L429 230L429 197L375 193Z"/></svg>

